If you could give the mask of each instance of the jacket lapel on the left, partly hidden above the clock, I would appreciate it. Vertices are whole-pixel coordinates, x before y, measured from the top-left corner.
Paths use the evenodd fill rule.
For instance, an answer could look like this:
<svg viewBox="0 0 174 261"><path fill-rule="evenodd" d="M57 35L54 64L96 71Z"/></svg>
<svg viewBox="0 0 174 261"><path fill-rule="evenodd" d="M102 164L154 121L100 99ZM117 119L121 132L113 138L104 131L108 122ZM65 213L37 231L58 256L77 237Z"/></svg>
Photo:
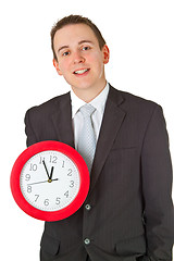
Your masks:
<svg viewBox="0 0 174 261"><path fill-rule="evenodd" d="M59 97L55 112L52 115L53 125L61 142L74 147L74 135L72 128L72 108L70 92Z"/></svg>

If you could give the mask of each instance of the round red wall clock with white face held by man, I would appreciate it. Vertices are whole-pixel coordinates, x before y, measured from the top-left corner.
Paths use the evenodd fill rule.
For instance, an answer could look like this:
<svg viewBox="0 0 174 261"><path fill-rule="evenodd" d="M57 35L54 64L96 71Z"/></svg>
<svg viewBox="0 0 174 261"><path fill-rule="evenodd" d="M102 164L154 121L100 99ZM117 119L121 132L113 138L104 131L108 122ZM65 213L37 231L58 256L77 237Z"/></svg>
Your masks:
<svg viewBox="0 0 174 261"><path fill-rule="evenodd" d="M89 190L89 172L80 154L59 141L32 145L16 159L11 190L18 207L42 221L75 213Z"/></svg>

